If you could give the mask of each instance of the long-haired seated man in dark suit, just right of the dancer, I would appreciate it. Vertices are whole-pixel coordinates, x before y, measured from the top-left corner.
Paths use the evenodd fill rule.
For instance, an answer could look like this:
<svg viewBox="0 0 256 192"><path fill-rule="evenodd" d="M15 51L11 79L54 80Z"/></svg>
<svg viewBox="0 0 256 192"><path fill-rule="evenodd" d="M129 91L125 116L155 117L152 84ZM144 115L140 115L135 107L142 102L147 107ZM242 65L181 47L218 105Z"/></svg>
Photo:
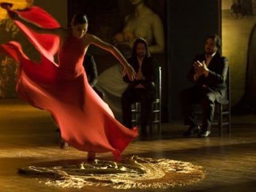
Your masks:
<svg viewBox="0 0 256 192"><path fill-rule="evenodd" d="M147 41L143 38L135 40L132 56L127 61L134 67L137 76L134 81L130 81L127 75L124 76L124 81L129 85L121 96L122 120L126 127L132 128L131 104L139 101L141 103L140 123L142 134L146 133L155 91L155 67L152 60L148 52Z"/></svg>

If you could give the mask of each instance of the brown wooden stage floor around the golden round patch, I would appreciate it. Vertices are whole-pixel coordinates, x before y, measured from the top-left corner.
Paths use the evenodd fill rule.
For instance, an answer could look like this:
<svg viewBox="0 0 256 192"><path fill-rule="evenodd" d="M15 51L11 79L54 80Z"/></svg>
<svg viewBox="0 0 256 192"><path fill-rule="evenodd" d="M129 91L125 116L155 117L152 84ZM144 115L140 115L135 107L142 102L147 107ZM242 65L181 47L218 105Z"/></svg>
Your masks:
<svg viewBox="0 0 256 192"><path fill-rule="evenodd" d="M166 158L200 165L205 178L194 185L157 191L255 191L256 115L232 117L232 134L223 138L213 128L210 138L182 138L181 122L163 124L161 137L138 138L124 157ZM111 188L57 188L36 178L19 175L29 165L54 162L83 162L86 153L74 148L59 149L59 133L48 112L28 106L19 99L0 100L0 191L122 191ZM98 154L111 159L111 154ZM156 190L123 190L156 191Z"/></svg>

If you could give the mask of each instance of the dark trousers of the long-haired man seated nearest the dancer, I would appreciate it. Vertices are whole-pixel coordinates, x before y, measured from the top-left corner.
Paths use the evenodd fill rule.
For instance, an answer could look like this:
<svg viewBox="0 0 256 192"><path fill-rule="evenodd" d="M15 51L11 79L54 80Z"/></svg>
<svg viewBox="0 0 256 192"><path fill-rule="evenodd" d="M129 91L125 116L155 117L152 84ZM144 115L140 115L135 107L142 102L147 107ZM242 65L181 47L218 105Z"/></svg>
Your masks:
<svg viewBox="0 0 256 192"><path fill-rule="evenodd" d="M148 125L149 115L151 111L151 102L153 100L153 93L151 90L145 88L132 88L124 91L121 97L122 105L122 122L127 128L132 128L132 111L131 104L140 102L141 114L140 122L141 127L146 128Z"/></svg>

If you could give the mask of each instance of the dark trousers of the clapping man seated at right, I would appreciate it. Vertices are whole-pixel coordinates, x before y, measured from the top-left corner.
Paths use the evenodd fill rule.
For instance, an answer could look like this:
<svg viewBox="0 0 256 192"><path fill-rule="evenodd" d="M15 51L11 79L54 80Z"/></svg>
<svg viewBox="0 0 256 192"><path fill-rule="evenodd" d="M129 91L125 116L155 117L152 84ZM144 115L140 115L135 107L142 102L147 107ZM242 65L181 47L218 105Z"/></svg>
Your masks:
<svg viewBox="0 0 256 192"><path fill-rule="evenodd" d="M181 91L179 99L184 125L197 125L195 104L202 106L202 131L210 130L215 110L216 91L210 88L192 87Z"/></svg>

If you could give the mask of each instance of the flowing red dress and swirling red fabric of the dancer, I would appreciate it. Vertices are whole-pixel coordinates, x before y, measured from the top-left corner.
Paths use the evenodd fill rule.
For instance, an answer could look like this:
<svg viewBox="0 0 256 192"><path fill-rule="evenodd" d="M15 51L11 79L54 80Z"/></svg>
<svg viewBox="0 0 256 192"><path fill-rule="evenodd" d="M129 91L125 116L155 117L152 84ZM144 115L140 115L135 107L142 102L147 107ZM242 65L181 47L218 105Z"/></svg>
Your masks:
<svg viewBox="0 0 256 192"><path fill-rule="evenodd" d="M43 28L56 28L59 23L40 7L15 10L23 19ZM17 92L20 98L54 115L62 138L81 151L113 152L121 159L121 152L138 136L137 128L129 130L114 119L109 106L93 91L87 81L82 62L82 41L67 38L58 52L59 37L41 35L19 21L15 24L41 54L41 62L32 62L15 41L0 46L0 52L19 62Z"/></svg>

